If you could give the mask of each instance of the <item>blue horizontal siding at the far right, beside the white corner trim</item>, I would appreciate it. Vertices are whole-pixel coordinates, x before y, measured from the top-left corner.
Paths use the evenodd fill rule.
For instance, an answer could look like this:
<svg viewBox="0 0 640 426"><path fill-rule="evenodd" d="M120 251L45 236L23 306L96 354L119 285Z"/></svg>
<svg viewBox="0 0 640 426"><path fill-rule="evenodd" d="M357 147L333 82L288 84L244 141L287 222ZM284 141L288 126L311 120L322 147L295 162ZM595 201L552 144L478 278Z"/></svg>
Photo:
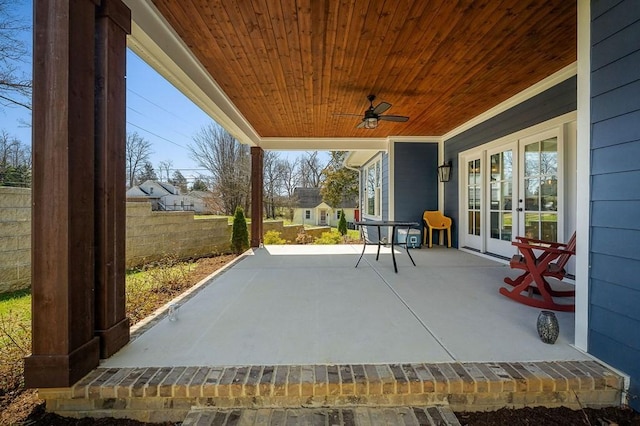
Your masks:
<svg viewBox="0 0 640 426"><path fill-rule="evenodd" d="M591 2L589 352L640 395L640 7ZM631 400L636 410L640 399Z"/></svg>

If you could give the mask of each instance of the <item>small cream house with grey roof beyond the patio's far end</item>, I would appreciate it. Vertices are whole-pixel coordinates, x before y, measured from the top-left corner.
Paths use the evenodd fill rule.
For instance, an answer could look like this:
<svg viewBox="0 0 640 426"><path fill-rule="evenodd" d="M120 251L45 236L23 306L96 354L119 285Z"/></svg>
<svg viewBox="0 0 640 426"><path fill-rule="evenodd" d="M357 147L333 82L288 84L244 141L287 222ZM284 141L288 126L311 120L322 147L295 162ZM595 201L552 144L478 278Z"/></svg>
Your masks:
<svg viewBox="0 0 640 426"><path fill-rule="evenodd" d="M343 200L333 207L322 201L320 188L296 188L293 191L296 206L293 209L293 223L317 226L338 226L340 212L344 210L347 223L357 220L357 200Z"/></svg>

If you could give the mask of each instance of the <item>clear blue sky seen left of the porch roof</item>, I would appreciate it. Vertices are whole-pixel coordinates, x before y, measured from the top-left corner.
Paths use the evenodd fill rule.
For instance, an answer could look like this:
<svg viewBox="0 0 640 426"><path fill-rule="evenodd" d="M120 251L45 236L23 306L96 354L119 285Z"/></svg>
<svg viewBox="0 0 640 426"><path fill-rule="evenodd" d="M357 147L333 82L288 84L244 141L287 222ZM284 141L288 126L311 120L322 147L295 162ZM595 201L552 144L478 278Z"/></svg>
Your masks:
<svg viewBox="0 0 640 426"><path fill-rule="evenodd" d="M21 0L16 15L24 17L32 27L32 1ZM31 32L24 34L32 44ZM31 58L29 58L29 61ZM31 74L31 62L24 67ZM192 181L206 174L190 157L188 145L204 127L213 123L199 107L156 73L135 53L127 49L127 133L137 132L151 142L150 162L159 173L161 161L171 161L173 169ZM0 130L5 130L24 144L31 144L31 112L22 107L0 111ZM282 157L297 157L300 152L282 153Z"/></svg>

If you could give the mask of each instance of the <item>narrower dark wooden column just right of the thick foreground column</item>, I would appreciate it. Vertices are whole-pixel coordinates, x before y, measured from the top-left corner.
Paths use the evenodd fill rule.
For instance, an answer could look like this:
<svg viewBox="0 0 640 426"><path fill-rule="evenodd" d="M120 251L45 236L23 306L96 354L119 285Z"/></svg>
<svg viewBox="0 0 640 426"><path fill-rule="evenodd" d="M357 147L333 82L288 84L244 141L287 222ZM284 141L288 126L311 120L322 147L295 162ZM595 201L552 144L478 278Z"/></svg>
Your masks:
<svg viewBox="0 0 640 426"><path fill-rule="evenodd" d="M96 17L96 321L100 357L129 341L125 309L126 49L131 11L102 0Z"/></svg>

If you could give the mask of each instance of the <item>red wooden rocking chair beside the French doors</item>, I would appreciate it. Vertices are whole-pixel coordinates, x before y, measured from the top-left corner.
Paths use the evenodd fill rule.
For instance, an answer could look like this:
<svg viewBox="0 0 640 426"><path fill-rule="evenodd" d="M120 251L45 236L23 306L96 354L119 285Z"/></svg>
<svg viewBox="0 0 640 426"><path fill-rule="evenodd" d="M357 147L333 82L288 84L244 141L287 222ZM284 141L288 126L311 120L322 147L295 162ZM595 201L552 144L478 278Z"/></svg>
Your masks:
<svg viewBox="0 0 640 426"><path fill-rule="evenodd" d="M576 250L576 234L568 243L556 243L533 238L516 237L511 244L518 247L521 254L511 258L509 266L522 269L524 273L516 279L506 277L504 282L514 286L512 290L500 288L500 294L525 305L555 311L575 311L574 304L556 303L554 297L574 297L575 290L554 290L545 277L562 280L566 274L565 266ZM536 256L536 252L541 252ZM526 294L523 294L525 293ZM542 296L534 298L533 293Z"/></svg>

